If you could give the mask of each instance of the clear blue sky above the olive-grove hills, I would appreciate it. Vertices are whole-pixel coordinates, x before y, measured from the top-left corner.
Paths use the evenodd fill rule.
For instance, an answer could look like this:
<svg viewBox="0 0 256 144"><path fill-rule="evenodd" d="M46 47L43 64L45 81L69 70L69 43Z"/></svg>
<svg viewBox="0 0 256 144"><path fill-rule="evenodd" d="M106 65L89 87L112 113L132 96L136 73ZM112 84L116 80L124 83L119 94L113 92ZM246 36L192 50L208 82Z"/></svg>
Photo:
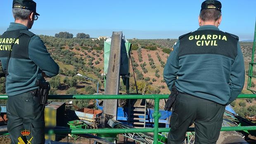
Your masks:
<svg viewBox="0 0 256 144"><path fill-rule="evenodd" d="M178 38L198 28L203 0L35 0L37 12L32 32L55 35L67 31L91 37L123 31L126 38ZM220 30L252 40L256 0L220 0L223 20ZM12 0L0 0L0 33L13 22Z"/></svg>

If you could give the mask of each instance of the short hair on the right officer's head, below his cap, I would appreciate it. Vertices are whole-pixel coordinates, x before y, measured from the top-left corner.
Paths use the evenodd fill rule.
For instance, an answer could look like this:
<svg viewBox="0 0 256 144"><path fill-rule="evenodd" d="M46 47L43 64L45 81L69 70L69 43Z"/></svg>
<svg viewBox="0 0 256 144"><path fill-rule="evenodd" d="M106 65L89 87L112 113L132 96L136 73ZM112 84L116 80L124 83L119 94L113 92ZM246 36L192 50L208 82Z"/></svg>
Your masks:
<svg viewBox="0 0 256 144"><path fill-rule="evenodd" d="M214 6L214 5L209 5ZM216 9L204 9L200 12L199 17L203 21L217 21L221 16L221 12Z"/></svg>

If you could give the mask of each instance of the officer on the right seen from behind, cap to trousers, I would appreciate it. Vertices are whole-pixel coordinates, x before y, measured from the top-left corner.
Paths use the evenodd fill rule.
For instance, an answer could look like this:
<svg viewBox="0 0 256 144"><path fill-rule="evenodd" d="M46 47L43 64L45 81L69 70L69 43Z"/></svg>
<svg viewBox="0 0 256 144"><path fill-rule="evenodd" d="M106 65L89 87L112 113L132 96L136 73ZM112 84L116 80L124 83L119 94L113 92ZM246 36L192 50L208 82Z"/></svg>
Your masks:
<svg viewBox="0 0 256 144"><path fill-rule="evenodd" d="M215 144L225 106L244 86L244 59L238 37L218 29L221 3L201 5L197 31L179 37L164 68L169 90L180 92L173 106L168 144L181 144L194 124L195 144ZM177 78L178 77L178 78Z"/></svg>

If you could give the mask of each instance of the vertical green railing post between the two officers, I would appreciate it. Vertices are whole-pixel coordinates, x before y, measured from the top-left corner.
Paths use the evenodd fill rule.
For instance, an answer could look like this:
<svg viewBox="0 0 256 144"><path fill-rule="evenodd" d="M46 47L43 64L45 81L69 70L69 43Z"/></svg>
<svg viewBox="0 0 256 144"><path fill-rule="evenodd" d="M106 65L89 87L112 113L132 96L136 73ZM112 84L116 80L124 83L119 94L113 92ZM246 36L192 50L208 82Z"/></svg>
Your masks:
<svg viewBox="0 0 256 144"><path fill-rule="evenodd" d="M155 95L156 97L154 98L155 104L154 104L154 144L158 143L158 122L159 122L159 117L161 114L159 113L159 97Z"/></svg>

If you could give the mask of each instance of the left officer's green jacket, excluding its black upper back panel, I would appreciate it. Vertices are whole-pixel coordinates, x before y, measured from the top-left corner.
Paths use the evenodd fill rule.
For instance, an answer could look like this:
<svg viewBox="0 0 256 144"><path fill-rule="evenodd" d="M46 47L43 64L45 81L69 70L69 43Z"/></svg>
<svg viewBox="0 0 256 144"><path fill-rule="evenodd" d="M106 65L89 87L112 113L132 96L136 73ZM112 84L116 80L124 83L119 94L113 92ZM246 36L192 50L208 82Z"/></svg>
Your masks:
<svg viewBox="0 0 256 144"><path fill-rule="evenodd" d="M26 26L18 23L10 23L7 31L18 29L28 31ZM36 80L44 80L43 72L49 77L56 76L59 73L59 66L48 53L44 42L37 35L34 35L28 42L28 58L10 58L9 75L6 78L6 93L8 96L37 89L35 82ZM0 57L0 61L2 62L2 69L5 71L7 58Z"/></svg>

